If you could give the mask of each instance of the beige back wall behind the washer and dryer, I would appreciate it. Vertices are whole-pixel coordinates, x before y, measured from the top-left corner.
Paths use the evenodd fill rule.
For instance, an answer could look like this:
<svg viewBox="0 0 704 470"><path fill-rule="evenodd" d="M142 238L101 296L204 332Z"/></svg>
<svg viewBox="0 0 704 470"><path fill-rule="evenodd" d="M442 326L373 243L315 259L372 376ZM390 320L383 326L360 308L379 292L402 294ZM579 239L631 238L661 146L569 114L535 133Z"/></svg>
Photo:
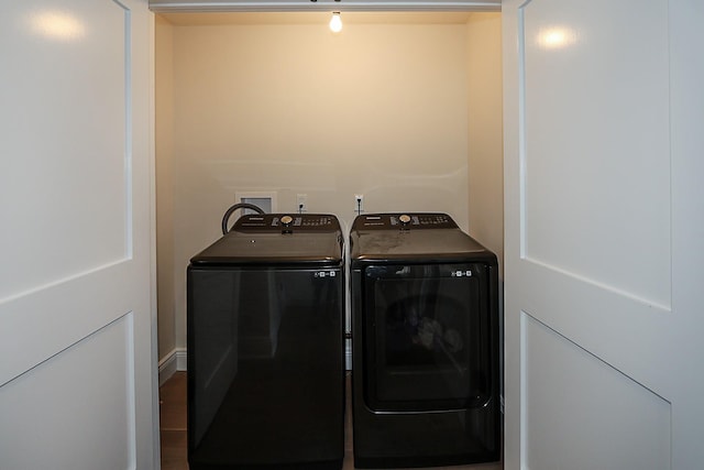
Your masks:
<svg viewBox="0 0 704 470"><path fill-rule="evenodd" d="M174 244L160 273L173 270L176 348L188 259L220 237L235 193L275 192L284 212L304 193L309 211L345 227L364 194L367 212L444 211L470 228L466 24L169 29Z"/></svg>

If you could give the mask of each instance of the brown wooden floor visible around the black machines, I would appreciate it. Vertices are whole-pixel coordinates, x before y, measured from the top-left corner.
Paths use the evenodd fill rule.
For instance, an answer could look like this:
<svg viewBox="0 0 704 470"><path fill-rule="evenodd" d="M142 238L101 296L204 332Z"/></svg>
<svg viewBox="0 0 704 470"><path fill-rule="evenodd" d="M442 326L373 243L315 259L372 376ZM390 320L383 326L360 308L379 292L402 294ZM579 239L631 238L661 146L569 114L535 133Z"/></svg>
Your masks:
<svg viewBox="0 0 704 470"><path fill-rule="evenodd" d="M348 394L349 396L349 394ZM160 389L162 470L188 470L186 455L186 372L176 372ZM343 470L354 469L352 458L352 420L348 401ZM503 463L433 467L427 470L503 470Z"/></svg>

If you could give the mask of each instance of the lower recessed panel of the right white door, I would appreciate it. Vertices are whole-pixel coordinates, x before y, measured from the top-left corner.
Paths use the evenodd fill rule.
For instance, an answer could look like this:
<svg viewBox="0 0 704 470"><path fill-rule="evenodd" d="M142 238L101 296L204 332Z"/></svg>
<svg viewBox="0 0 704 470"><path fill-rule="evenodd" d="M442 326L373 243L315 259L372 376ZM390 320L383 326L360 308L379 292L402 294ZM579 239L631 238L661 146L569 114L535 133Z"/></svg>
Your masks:
<svg viewBox="0 0 704 470"><path fill-rule="evenodd" d="M671 468L667 400L527 314L520 340L526 468Z"/></svg>

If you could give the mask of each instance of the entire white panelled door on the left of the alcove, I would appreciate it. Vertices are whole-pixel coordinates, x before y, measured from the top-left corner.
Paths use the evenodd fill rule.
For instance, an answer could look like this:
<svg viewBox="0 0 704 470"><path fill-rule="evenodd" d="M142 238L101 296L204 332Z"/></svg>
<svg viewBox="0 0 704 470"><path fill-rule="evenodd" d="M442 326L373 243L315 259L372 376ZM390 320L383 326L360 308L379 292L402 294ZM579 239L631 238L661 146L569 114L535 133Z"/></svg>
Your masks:
<svg viewBox="0 0 704 470"><path fill-rule="evenodd" d="M0 468L158 467L146 0L0 15Z"/></svg>

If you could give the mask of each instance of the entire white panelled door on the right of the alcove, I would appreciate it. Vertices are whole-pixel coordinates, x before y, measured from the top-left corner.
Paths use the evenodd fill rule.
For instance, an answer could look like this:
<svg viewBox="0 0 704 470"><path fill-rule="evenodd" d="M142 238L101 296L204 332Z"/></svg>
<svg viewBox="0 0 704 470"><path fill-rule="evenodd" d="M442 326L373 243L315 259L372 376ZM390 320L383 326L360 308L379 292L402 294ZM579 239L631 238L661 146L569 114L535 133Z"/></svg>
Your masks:
<svg viewBox="0 0 704 470"><path fill-rule="evenodd" d="M503 19L506 468L696 468L703 7Z"/></svg>

